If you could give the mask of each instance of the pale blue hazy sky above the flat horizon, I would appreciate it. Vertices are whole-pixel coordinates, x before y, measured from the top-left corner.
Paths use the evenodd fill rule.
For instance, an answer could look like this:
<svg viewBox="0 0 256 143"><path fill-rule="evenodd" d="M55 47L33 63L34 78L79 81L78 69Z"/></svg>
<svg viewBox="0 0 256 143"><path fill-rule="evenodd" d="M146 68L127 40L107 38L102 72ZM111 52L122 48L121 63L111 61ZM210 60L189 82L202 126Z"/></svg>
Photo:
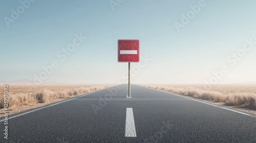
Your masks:
<svg viewBox="0 0 256 143"><path fill-rule="evenodd" d="M117 40L139 39L140 56L152 60L132 83L204 83L223 65L229 71L218 83L256 82L256 44L234 66L226 60L245 39L256 41L256 1L205 0L180 32L174 23L200 1L124 0L114 10L109 2L37 0L8 27L5 17L22 4L1 1L0 81L32 81L56 60L59 66L43 82L126 83L127 63L117 62ZM61 61L58 51L80 33L87 38Z"/></svg>

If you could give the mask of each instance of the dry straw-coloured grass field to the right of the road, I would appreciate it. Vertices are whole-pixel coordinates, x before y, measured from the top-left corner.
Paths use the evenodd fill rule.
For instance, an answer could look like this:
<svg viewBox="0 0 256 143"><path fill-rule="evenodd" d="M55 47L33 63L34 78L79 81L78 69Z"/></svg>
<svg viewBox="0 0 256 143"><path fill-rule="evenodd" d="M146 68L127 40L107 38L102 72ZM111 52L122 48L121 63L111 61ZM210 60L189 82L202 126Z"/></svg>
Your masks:
<svg viewBox="0 0 256 143"><path fill-rule="evenodd" d="M204 89L203 85L143 85L158 90L169 91L184 96L214 102L223 102L227 106L256 107L255 85L218 85ZM194 87L193 87L194 86ZM225 88L223 88L225 87ZM217 89L217 91L215 91ZM249 90L246 90L249 89ZM230 91L230 92L228 92Z"/></svg>

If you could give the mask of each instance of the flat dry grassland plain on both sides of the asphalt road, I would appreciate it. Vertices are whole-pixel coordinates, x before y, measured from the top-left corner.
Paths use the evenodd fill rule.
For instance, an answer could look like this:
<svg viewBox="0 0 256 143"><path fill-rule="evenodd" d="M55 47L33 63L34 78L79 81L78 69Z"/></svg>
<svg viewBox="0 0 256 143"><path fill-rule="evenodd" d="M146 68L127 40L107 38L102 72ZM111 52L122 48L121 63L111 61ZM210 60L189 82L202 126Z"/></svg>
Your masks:
<svg viewBox="0 0 256 143"><path fill-rule="evenodd" d="M110 86L114 85L9 85L9 115ZM219 84L211 88L205 88L203 84L147 84L141 86L169 91L256 114L256 85L252 84ZM0 110L1 114L4 114L4 85L0 85L0 87Z"/></svg>

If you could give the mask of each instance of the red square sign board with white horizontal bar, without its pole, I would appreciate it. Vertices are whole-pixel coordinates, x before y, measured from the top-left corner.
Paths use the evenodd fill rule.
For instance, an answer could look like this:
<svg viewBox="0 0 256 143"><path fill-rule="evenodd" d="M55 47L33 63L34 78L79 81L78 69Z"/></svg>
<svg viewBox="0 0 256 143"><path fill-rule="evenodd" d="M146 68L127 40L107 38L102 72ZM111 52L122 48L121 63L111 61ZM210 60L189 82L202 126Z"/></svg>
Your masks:
<svg viewBox="0 0 256 143"><path fill-rule="evenodd" d="M118 40L118 62L139 62L139 40Z"/></svg>

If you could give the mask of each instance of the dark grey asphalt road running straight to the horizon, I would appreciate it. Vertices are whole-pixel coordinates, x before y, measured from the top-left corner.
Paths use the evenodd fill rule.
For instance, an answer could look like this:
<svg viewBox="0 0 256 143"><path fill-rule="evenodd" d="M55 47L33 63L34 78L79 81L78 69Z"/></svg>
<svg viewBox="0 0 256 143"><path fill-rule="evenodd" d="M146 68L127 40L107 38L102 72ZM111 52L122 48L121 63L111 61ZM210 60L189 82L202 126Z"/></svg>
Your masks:
<svg viewBox="0 0 256 143"><path fill-rule="evenodd" d="M8 140L0 122L0 142L256 142L256 117L121 86L9 118Z"/></svg>

